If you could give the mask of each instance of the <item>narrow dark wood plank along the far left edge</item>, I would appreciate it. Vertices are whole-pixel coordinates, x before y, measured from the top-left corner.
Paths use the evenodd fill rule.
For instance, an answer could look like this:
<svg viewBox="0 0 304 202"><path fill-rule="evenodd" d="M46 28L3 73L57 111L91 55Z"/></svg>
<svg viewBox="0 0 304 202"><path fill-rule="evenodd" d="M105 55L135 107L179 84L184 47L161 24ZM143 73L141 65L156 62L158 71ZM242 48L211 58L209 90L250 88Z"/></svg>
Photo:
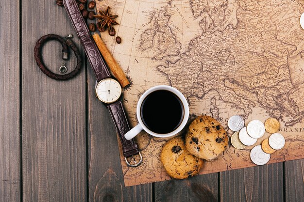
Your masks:
<svg viewBox="0 0 304 202"><path fill-rule="evenodd" d="M1 1L0 15L0 201L19 202L19 2Z"/></svg>

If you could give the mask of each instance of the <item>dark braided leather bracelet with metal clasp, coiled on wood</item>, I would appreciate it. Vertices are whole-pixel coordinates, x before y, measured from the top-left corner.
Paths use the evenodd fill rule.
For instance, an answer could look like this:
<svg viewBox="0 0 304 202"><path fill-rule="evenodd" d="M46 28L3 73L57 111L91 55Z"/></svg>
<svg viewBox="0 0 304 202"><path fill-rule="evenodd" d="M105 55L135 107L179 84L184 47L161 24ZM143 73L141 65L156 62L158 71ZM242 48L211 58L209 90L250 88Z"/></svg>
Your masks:
<svg viewBox="0 0 304 202"><path fill-rule="evenodd" d="M57 34L47 34L42 36L37 42L36 45L34 47L34 57L35 57L35 61L37 62L38 67L41 69L41 71L46 74L48 77L56 79L56 80L67 80L69 78L74 77L80 70L81 67L81 55L79 54L79 51L77 49L77 47L75 46L75 44L73 43L72 40L70 40L69 38L72 38L73 36L70 34L67 37L61 37ZM68 60L68 47L70 47L76 58L77 58L77 65L75 67L75 69L73 71L71 71L68 74L64 74L64 75L59 75L59 74L55 74L53 72L51 72L44 64L44 62L42 61L42 57L40 55L40 49L43 46L43 44L49 40L56 40L59 41L60 44L62 45L62 59L63 60ZM64 65L64 62L63 62ZM64 67L64 66L62 66ZM66 67L65 67L66 68ZM60 69L61 70L61 69Z"/></svg>

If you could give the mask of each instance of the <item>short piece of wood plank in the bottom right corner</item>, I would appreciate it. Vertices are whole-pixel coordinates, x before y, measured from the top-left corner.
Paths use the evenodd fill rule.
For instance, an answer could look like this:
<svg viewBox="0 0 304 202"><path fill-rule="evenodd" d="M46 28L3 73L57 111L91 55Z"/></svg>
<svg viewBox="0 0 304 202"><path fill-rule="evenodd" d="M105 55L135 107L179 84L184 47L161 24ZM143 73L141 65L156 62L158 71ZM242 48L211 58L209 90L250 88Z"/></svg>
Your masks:
<svg viewBox="0 0 304 202"><path fill-rule="evenodd" d="M304 200L304 159L287 161L285 167L286 202Z"/></svg>

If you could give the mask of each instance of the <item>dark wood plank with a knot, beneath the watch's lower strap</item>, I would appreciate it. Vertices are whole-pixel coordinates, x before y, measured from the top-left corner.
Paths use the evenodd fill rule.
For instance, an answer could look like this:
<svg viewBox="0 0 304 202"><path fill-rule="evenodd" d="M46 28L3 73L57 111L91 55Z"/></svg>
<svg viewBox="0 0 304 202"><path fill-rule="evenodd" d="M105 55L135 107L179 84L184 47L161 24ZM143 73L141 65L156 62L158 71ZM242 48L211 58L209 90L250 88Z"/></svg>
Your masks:
<svg viewBox="0 0 304 202"><path fill-rule="evenodd" d="M116 129L109 110L95 97L88 66L89 201L152 202L152 184L125 187Z"/></svg>

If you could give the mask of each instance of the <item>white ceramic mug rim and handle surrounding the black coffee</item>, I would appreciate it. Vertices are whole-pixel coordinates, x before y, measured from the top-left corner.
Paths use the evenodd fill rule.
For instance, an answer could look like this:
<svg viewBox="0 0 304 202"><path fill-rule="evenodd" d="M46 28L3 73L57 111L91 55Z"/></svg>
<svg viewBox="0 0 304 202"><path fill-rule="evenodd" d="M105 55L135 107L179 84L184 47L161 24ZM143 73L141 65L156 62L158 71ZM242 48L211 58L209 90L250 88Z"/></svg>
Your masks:
<svg viewBox="0 0 304 202"><path fill-rule="evenodd" d="M175 130L173 130L172 132L166 133L166 134L158 134L158 133L154 133L153 131L149 130L147 128L147 126L143 123L142 118L140 116L141 105L142 105L144 99L150 93L152 93L154 91L159 91L159 90L166 90L166 91L169 91L171 93L174 93L181 100L181 102L183 104L183 107L184 107L184 116L183 116L183 120L182 120L181 124ZM150 135L158 137L158 138L168 138L170 136L176 135L178 132L180 132L185 127L185 125L188 121L188 117L189 117L189 106L188 106L188 103L187 103L187 100L186 100L185 96L181 92L176 90L175 88L173 88L171 86L165 86L165 85L154 86L154 87L148 89L139 98L138 103L137 103L137 107L136 107L136 116L137 116L138 124L134 128L132 128L129 132L127 132L125 134L125 138L127 140L131 140L138 133L140 133L142 130L144 130L147 133L149 133ZM169 118L169 116L170 115L168 114L168 118Z"/></svg>

